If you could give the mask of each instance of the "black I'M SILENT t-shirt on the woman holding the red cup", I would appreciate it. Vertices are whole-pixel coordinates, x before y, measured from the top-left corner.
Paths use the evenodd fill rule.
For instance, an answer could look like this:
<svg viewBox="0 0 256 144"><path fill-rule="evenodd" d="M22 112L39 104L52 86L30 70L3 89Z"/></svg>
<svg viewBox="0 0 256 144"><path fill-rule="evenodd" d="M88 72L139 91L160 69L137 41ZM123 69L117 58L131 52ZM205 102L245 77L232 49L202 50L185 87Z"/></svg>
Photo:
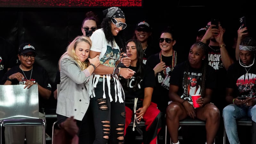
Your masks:
<svg viewBox="0 0 256 144"><path fill-rule="evenodd" d="M201 82L202 82L202 68L188 68L188 84L184 84L184 74L185 74L185 62L178 64L172 70L170 85L179 86L178 95L192 103L191 95L201 94ZM214 89L216 85L216 73L214 69L207 65L206 69L206 80L205 88Z"/></svg>

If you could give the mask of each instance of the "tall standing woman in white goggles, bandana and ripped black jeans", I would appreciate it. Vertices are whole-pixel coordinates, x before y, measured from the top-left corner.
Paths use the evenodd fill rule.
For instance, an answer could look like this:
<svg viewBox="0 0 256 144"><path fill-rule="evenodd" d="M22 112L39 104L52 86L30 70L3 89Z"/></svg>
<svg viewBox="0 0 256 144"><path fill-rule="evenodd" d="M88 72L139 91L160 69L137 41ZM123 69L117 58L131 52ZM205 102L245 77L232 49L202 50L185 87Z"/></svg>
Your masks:
<svg viewBox="0 0 256 144"><path fill-rule="evenodd" d="M124 143L125 105L124 90L118 76L130 78L134 71L120 68L121 62L129 67L129 57L120 59L120 50L125 50L123 29L126 28L124 12L118 7L111 7L103 11L105 18L101 28L92 36L92 47L89 57L100 55L100 65L95 68L89 81L90 107L95 127L93 144Z"/></svg>

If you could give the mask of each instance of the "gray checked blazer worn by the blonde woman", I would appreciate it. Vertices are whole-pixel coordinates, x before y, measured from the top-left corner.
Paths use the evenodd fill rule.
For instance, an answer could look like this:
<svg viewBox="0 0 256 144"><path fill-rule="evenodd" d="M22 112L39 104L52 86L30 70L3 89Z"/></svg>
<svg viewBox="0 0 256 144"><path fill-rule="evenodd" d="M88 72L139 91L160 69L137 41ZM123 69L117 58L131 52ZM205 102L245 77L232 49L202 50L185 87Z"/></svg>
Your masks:
<svg viewBox="0 0 256 144"><path fill-rule="evenodd" d="M90 103L88 80L76 60L64 56L60 61L60 93L56 113L82 121Z"/></svg>

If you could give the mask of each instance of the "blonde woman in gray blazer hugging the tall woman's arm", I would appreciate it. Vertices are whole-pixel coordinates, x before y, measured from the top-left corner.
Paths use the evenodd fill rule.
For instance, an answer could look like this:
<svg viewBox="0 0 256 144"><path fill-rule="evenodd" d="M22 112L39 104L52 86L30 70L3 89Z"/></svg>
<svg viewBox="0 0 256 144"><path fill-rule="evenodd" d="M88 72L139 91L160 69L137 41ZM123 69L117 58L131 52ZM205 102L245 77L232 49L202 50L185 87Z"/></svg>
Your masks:
<svg viewBox="0 0 256 144"><path fill-rule="evenodd" d="M74 116L79 128L77 135L90 103L88 81L100 64L99 55L92 59L88 58L91 46L92 41L89 37L77 36L59 60L60 93L56 109L58 124L65 127L64 121Z"/></svg>

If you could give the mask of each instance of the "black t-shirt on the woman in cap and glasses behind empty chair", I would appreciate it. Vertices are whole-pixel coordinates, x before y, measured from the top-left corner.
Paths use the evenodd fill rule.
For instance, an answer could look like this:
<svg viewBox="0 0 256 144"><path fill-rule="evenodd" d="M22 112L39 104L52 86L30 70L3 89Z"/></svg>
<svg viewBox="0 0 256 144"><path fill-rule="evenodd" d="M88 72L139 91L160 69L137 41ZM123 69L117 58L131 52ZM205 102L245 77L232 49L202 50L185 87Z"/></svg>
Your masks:
<svg viewBox="0 0 256 144"><path fill-rule="evenodd" d="M24 80L23 80L23 82L19 82L17 79L15 79L12 82L12 84L24 84L24 83L26 83L26 81L28 81L27 79L30 79L30 81L42 86L43 88L46 88L46 89L52 91L52 86L50 84L49 77L48 77L46 70L43 67L36 66L35 64L34 64L33 68L29 71L22 71L18 65L14 66L12 69L10 69L9 71L7 71L7 73L4 74L1 84L5 83L8 76L11 76L12 74L17 73L17 72L20 72L21 74L23 74L23 72L24 72L24 74L25 74L25 75L23 74ZM41 97L39 94L39 108L44 108L44 105L47 104L46 102L47 102L47 100L43 99L43 97Z"/></svg>

